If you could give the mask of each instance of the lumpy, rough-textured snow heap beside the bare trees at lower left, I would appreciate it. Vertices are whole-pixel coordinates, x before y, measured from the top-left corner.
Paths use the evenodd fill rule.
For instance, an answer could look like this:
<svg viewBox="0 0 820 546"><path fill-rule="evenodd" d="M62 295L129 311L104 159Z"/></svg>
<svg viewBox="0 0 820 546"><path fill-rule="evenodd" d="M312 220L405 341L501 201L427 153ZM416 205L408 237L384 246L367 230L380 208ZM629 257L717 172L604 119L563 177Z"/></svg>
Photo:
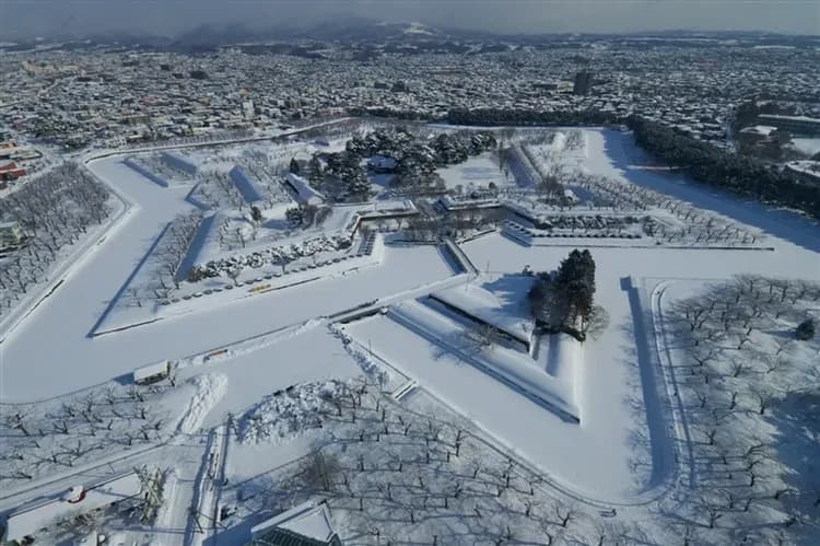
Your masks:
<svg viewBox="0 0 820 546"><path fill-rule="evenodd" d="M336 413L336 402L348 392L344 382L304 383L277 391L249 409L239 420L239 441L257 444L321 428L323 415Z"/></svg>

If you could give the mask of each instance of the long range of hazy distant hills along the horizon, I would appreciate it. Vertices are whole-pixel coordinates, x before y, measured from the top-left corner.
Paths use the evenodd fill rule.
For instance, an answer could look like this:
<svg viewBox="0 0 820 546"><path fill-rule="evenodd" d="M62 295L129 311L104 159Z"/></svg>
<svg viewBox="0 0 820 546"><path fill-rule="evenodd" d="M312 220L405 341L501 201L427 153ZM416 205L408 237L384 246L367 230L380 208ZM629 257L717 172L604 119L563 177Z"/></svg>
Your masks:
<svg viewBox="0 0 820 546"><path fill-rule="evenodd" d="M605 39L624 47L653 45L677 47L789 46L820 47L818 36L794 36L766 32L654 31L629 34L493 34L484 31L444 28L419 22L386 22L366 18L338 19L331 22L301 24L279 23L268 27L250 27L241 23L203 24L175 37L154 36L138 32L108 32L85 36L54 36L48 40L17 39L0 43L0 50L24 50L60 44L62 48L85 48L101 45L171 49L183 53L215 50L241 45L249 53L265 51L296 56L319 56L321 44L335 44L354 51L354 58L373 58L379 53L458 53L482 54L531 46L536 49L561 47ZM69 46L70 44L70 46ZM307 46L305 44L308 44Z"/></svg>

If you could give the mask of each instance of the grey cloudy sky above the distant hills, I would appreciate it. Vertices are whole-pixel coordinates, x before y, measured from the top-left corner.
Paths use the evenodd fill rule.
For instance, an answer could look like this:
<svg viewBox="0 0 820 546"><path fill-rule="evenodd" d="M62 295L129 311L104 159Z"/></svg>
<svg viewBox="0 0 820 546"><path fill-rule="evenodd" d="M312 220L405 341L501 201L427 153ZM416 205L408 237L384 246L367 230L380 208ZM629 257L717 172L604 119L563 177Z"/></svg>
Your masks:
<svg viewBox="0 0 820 546"><path fill-rule="evenodd" d="M174 36L340 16L497 33L755 30L820 34L818 0L0 0L0 40L118 31Z"/></svg>

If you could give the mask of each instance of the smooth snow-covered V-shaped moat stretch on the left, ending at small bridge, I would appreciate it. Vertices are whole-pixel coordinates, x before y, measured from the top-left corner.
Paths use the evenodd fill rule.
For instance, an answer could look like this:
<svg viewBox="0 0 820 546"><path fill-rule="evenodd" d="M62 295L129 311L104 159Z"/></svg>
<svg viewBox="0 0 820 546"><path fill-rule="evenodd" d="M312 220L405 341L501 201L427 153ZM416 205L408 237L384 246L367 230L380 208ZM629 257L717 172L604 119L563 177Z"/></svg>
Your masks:
<svg viewBox="0 0 820 546"><path fill-rule="evenodd" d="M134 265L144 259L163 225L179 211L190 210L184 188L162 188L117 159L95 162L92 167L128 195L134 202L133 212L75 267L60 287L59 298L49 298L5 339L0 385L3 400L42 399L77 391L150 362L203 352L450 276L434 247L386 246L378 267L354 275L91 338L89 334L110 299L118 297L124 282L127 286ZM288 312L271 312L276 309ZM66 365L56 355L71 355L82 367Z"/></svg>

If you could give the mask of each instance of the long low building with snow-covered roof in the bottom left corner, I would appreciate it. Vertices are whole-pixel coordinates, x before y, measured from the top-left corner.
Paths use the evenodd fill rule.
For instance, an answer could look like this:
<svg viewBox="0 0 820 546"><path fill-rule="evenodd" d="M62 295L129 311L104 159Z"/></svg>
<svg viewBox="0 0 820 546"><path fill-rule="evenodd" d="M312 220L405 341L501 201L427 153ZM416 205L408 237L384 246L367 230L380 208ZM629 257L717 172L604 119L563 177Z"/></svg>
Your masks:
<svg viewBox="0 0 820 546"><path fill-rule="evenodd" d="M142 485L134 472L120 474L89 488L73 487L60 497L52 497L22 507L5 518L5 542L24 542L26 537L36 539L38 534L48 533L60 522L93 510L116 504L140 495Z"/></svg>

